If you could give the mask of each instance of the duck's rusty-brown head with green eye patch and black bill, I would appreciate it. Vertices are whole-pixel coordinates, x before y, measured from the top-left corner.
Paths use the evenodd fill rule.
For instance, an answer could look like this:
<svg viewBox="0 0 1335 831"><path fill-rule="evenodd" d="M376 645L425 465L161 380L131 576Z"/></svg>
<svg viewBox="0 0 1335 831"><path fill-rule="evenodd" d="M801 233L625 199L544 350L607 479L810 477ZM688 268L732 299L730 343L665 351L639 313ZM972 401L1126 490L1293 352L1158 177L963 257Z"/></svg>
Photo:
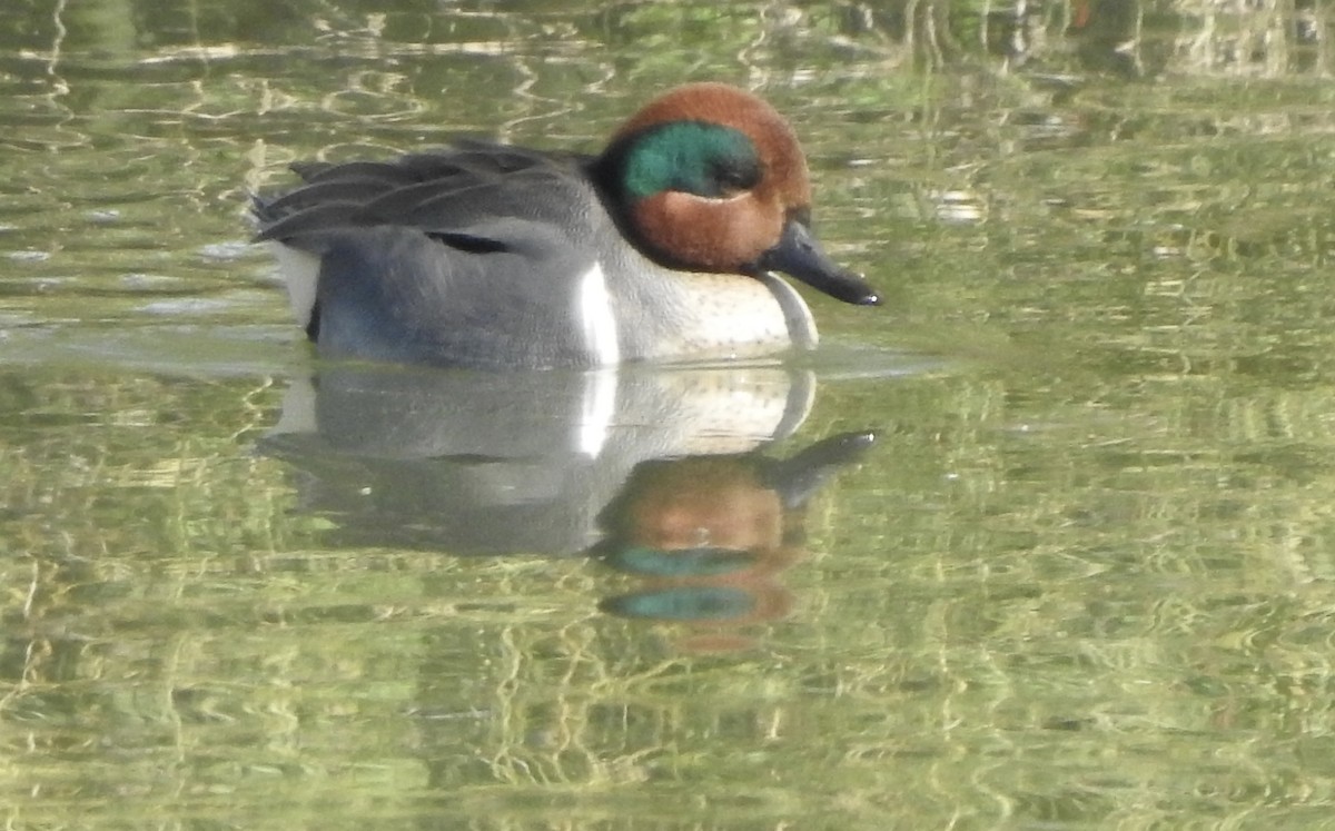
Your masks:
<svg viewBox="0 0 1335 831"><path fill-rule="evenodd" d="M626 122L594 170L626 232L665 265L782 271L846 303L881 302L816 242L797 136L749 92L677 87Z"/></svg>

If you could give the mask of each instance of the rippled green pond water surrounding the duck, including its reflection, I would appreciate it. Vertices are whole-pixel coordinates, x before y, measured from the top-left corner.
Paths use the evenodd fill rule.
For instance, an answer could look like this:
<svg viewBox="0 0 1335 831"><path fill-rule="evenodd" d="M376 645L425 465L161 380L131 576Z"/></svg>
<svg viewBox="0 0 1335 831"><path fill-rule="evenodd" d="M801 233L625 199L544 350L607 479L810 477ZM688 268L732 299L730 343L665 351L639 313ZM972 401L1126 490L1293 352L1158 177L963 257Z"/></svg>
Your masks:
<svg viewBox="0 0 1335 831"><path fill-rule="evenodd" d="M11 5L7 827L1335 827L1326 4ZM322 365L248 244L704 79L809 358Z"/></svg>

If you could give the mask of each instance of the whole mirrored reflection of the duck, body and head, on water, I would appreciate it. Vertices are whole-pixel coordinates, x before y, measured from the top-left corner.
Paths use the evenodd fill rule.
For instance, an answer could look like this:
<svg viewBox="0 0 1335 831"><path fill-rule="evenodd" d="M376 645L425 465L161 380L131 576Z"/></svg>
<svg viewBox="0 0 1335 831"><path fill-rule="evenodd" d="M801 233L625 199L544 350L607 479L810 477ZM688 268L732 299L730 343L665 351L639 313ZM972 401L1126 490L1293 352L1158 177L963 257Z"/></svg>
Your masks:
<svg viewBox="0 0 1335 831"><path fill-rule="evenodd" d="M334 545L593 554L643 581L609 613L738 627L788 611L777 574L802 556L802 508L872 442L764 456L814 389L780 366L334 366L294 382L263 448L299 470Z"/></svg>

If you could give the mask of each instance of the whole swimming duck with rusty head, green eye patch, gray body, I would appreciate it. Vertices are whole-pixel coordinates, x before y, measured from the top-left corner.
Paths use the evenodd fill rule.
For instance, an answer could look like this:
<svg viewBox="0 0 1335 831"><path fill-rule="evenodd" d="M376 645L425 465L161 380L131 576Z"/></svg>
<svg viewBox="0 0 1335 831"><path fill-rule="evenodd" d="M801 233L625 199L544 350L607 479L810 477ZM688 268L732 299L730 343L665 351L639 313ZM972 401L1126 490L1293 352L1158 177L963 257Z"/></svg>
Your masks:
<svg viewBox="0 0 1335 831"><path fill-rule="evenodd" d="M291 166L256 195L319 357L593 369L814 349L782 277L876 306L812 231L788 122L722 83L653 99L597 155L462 139L388 160Z"/></svg>

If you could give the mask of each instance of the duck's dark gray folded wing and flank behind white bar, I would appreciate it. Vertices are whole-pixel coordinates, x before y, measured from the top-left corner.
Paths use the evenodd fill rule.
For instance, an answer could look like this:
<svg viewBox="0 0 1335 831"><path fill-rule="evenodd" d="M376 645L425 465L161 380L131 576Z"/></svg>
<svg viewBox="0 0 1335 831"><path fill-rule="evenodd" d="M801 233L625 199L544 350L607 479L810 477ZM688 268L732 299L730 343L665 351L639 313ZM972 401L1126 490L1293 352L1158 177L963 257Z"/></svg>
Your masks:
<svg viewBox="0 0 1335 831"><path fill-rule="evenodd" d="M308 166L256 200L259 239L319 258L322 353L446 365L583 366L573 319L602 218L577 159L474 146Z"/></svg>

